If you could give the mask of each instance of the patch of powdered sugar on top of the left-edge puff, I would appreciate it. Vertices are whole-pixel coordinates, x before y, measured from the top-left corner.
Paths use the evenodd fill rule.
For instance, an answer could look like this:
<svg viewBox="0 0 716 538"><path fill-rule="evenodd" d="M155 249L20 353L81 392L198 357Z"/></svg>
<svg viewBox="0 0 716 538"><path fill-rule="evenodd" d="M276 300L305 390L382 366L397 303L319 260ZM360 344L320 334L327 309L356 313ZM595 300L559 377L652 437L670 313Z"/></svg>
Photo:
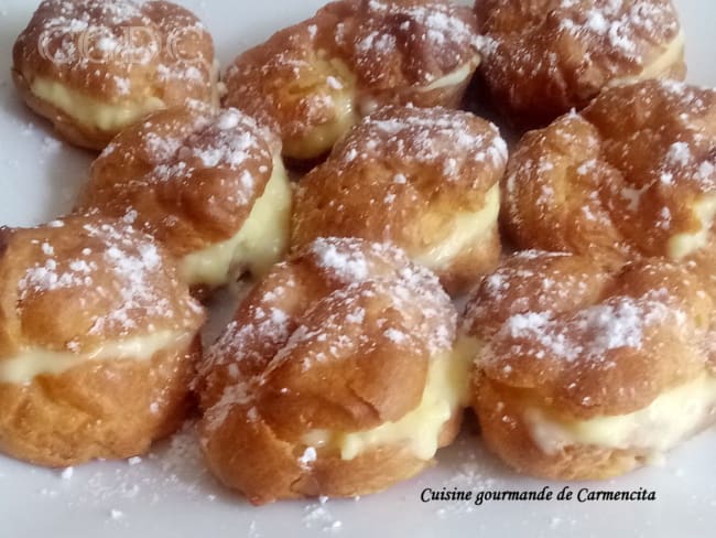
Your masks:
<svg viewBox="0 0 716 538"><path fill-rule="evenodd" d="M91 248L74 248L64 238L55 240L56 233L47 233L42 240L31 240L35 261L18 282L20 310L23 301L35 295L66 290L109 297L108 304L113 306L91 316L90 335L151 331L151 320L196 323L189 319L198 314L200 308L189 300L188 293L184 300L175 302L165 295L166 288L158 286L158 281L167 278L166 261L151 237L121 222L78 218L84 224L78 229L73 228L74 233ZM41 230L35 228L30 233L40 236ZM91 304L88 298L78 300L80 306ZM181 311L175 310L177 305Z"/></svg>

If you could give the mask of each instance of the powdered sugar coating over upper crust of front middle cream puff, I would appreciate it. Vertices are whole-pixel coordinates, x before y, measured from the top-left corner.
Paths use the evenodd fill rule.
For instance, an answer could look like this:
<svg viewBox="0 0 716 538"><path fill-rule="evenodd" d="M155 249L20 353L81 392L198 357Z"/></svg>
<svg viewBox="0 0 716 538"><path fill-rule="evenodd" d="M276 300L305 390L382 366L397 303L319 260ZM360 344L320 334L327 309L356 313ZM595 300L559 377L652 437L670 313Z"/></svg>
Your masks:
<svg viewBox="0 0 716 538"><path fill-rule="evenodd" d="M306 273L325 291L302 298L291 313L280 310L288 292L295 304L295 293L305 289L296 279ZM288 361L305 372L355 359L376 346L433 357L453 345L456 314L437 278L389 245L321 238L276 266L260 286L200 368L205 377L225 368L227 388L207 413L209 430L220 427L234 406L250 405L262 379ZM241 374L246 362L260 365L253 377Z"/></svg>

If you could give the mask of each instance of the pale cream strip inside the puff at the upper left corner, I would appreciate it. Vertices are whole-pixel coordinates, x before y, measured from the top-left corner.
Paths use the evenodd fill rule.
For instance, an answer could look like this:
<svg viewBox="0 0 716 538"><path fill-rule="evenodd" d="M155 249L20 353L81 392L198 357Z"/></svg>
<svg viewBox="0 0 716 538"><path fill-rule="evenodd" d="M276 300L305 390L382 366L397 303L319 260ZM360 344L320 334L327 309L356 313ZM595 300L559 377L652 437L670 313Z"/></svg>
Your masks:
<svg viewBox="0 0 716 538"><path fill-rule="evenodd" d="M110 105L47 78L35 78L30 92L79 123L102 131L121 130L149 112L166 108L164 101L158 97L148 97L139 103L127 100Z"/></svg>

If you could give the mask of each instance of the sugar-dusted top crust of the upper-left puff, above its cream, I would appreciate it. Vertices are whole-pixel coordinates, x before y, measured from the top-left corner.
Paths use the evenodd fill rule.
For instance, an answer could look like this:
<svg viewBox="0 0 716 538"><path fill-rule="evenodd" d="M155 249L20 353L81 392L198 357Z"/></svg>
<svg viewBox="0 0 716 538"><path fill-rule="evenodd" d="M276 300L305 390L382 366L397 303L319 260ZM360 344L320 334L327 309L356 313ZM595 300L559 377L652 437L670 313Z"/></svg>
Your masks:
<svg viewBox="0 0 716 538"><path fill-rule="evenodd" d="M189 34L193 43L187 47ZM37 61L52 62L66 72L64 82L80 90L91 86L126 100L165 99L181 89L181 95L211 99L213 57L204 57L211 37L194 15L174 6L44 0L19 43L26 62L23 73Z"/></svg>

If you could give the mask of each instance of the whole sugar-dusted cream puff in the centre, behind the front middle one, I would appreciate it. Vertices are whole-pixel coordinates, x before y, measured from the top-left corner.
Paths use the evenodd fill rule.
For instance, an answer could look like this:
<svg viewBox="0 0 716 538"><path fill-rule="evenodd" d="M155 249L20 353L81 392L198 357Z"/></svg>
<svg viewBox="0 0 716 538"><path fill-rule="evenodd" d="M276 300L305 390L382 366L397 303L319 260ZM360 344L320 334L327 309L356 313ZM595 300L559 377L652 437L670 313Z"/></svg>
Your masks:
<svg viewBox="0 0 716 538"><path fill-rule="evenodd" d="M459 293L500 256L499 182L507 144L469 112L386 107L301 180L292 246L316 237L390 241Z"/></svg>

